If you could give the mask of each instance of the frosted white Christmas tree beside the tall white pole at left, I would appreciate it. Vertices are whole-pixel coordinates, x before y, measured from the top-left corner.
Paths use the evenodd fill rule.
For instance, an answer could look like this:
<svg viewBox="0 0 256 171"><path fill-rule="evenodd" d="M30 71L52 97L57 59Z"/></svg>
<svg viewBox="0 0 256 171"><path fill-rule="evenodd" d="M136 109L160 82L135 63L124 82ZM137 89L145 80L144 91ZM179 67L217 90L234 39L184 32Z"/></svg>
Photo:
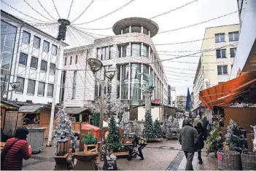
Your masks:
<svg viewBox="0 0 256 171"><path fill-rule="evenodd" d="M72 123L68 119L66 111L64 109L58 111L58 122L57 127L55 127L55 135L54 135L54 145L57 146L58 140L64 138L70 138L70 146L71 148L75 148L77 143L77 138L74 136L74 131L72 130Z"/></svg>

